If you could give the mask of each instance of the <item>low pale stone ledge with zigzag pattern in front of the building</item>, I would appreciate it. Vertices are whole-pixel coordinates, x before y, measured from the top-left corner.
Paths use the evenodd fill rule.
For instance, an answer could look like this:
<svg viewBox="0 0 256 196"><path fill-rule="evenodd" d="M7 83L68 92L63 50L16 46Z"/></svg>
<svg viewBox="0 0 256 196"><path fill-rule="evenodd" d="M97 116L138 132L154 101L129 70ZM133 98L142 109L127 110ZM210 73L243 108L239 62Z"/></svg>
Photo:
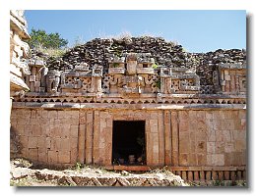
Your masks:
<svg viewBox="0 0 256 196"><path fill-rule="evenodd" d="M188 186L180 176L171 172L136 174L126 171L102 172L99 169L92 169L90 172L87 169L85 169L86 172L84 170L80 172L32 170L21 167L19 163L20 161L17 160L11 161L12 180L30 176L45 182L55 180L56 185L68 184L70 186Z"/></svg>

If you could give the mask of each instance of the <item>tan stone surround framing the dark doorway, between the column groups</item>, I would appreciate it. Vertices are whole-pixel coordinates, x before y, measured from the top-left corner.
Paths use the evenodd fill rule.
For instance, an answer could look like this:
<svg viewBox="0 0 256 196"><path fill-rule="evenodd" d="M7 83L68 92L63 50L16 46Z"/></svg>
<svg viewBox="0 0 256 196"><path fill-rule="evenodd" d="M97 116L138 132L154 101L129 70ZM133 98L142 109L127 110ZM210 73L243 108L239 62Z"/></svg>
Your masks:
<svg viewBox="0 0 256 196"><path fill-rule="evenodd" d="M165 115L162 111L114 109L97 110L93 113L93 145L91 149L86 150L92 152L92 154L86 153L88 157L92 156L92 164L112 166L112 151L109 149L112 149L113 121L145 121L146 166L159 167L164 165L165 125L163 124L163 118Z"/></svg>

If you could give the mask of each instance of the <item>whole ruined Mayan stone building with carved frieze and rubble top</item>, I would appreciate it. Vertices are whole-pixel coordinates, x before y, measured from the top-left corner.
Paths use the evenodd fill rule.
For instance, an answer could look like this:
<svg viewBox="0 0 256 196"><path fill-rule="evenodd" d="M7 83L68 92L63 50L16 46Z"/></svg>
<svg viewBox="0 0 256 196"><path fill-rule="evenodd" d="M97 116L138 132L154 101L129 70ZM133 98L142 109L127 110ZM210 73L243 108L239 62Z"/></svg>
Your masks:
<svg viewBox="0 0 256 196"><path fill-rule="evenodd" d="M158 37L32 51L11 131L33 163L167 166L183 179L246 177L246 51L188 53Z"/></svg>

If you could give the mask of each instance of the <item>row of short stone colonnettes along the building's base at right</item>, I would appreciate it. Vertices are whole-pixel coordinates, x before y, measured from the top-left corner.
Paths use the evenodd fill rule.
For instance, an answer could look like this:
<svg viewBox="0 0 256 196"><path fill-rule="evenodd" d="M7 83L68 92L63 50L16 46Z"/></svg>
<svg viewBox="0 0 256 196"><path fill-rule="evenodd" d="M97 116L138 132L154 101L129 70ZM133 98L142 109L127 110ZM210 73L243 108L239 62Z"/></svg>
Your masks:
<svg viewBox="0 0 256 196"><path fill-rule="evenodd" d="M172 171L188 181L246 180L246 171Z"/></svg>

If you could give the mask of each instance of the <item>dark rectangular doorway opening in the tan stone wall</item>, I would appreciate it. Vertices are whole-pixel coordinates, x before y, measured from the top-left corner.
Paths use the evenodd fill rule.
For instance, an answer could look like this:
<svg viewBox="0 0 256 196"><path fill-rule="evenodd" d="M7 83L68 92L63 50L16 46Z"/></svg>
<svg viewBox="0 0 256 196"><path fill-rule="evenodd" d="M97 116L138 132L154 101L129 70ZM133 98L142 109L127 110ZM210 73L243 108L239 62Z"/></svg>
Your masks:
<svg viewBox="0 0 256 196"><path fill-rule="evenodd" d="M114 121L113 165L146 165L145 121Z"/></svg>

